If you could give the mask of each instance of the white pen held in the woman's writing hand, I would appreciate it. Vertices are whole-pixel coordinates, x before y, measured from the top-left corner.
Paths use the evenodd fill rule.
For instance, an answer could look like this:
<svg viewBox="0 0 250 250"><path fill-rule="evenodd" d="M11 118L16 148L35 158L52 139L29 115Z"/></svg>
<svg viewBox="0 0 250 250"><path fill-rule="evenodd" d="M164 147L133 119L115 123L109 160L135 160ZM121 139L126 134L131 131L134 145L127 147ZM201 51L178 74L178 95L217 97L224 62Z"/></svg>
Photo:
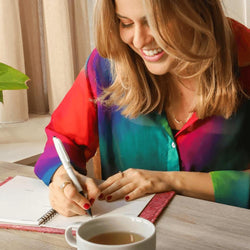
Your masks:
<svg viewBox="0 0 250 250"><path fill-rule="evenodd" d="M78 179L76 178L74 172L73 172L73 168L72 168L72 165L70 163L70 159L69 159L69 156L62 144L62 141L53 136L53 142L54 142L54 145L55 145L55 148L56 148L56 152L62 162L62 165L64 167L64 169L66 170L69 178L72 180L73 184L75 185L77 191L82 195L84 196L84 193L83 193L83 190L82 190L82 186L81 184L79 183ZM84 196L85 197L85 196ZM92 217L92 213L91 213L91 209L88 209L86 210L87 213Z"/></svg>

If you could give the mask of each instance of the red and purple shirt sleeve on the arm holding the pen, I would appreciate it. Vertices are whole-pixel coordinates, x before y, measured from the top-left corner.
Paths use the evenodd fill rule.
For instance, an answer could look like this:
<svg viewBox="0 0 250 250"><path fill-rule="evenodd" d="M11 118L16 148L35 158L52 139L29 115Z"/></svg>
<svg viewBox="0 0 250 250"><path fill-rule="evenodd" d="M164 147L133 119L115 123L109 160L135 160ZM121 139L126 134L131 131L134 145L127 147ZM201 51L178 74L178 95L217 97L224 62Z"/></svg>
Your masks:
<svg viewBox="0 0 250 250"><path fill-rule="evenodd" d="M60 138L77 171L86 174L86 162L98 147L96 89L81 70L73 86L51 116L46 127L47 143L35 165L35 174L49 185L61 161L52 138Z"/></svg>

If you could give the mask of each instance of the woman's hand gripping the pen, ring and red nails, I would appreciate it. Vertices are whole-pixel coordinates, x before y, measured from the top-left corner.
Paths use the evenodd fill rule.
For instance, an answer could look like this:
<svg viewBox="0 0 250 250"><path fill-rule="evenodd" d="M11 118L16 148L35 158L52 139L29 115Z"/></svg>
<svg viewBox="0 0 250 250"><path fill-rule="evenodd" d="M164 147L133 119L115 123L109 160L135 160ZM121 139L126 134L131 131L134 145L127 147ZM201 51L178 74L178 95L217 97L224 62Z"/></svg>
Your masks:
<svg viewBox="0 0 250 250"><path fill-rule="evenodd" d="M49 184L51 206L64 216L86 214L86 210L93 205L100 194L100 190L92 178L81 175L75 170L73 171L84 193L87 193L86 197L88 199L77 191L63 166L56 170Z"/></svg>

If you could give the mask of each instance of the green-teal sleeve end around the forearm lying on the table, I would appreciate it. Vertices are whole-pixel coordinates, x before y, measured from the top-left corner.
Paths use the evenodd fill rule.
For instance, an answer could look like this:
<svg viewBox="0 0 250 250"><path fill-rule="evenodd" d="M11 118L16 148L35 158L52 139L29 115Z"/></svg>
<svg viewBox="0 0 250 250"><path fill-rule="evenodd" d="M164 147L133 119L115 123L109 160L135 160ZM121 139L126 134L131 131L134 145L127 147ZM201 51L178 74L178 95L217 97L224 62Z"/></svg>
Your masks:
<svg viewBox="0 0 250 250"><path fill-rule="evenodd" d="M250 172L223 170L210 175L216 202L250 208Z"/></svg>

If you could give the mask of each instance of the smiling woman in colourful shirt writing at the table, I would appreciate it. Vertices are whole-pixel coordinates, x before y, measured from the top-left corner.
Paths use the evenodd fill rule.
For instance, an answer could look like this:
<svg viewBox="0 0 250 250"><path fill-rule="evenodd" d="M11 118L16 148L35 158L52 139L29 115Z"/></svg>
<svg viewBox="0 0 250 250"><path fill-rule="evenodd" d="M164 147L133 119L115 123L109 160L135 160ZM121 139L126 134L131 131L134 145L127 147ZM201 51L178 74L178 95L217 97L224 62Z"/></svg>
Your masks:
<svg viewBox="0 0 250 250"><path fill-rule="evenodd" d="M249 30L224 16L220 0L98 0L95 34L97 50L53 113L35 166L52 206L72 216L97 197L174 190L249 208ZM99 186L84 176L98 146Z"/></svg>

